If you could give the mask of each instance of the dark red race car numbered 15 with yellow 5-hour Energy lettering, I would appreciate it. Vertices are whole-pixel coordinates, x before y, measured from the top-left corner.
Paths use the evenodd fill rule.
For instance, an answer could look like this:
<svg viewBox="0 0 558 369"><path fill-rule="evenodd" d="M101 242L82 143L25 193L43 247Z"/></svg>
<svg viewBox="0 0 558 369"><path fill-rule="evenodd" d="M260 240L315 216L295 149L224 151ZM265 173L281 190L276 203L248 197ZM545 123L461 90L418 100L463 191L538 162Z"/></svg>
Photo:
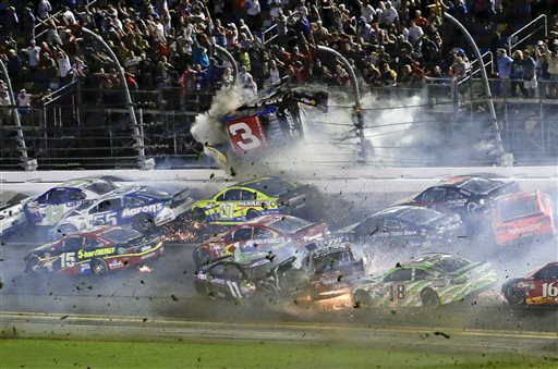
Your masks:
<svg viewBox="0 0 558 369"><path fill-rule="evenodd" d="M100 226L37 247L24 260L28 273L105 274L162 253L159 237L121 226Z"/></svg>

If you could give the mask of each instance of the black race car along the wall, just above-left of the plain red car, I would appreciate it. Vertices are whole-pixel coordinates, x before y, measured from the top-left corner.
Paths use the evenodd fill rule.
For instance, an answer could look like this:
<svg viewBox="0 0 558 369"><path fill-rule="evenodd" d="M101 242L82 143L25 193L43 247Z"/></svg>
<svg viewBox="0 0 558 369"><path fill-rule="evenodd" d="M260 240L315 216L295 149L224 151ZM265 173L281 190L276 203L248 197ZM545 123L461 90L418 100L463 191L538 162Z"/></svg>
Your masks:
<svg viewBox="0 0 558 369"><path fill-rule="evenodd" d="M480 175L460 175L426 188L403 205L420 206L441 212L456 212L466 217L472 214L474 209L496 197L519 190L515 182L502 182Z"/></svg>

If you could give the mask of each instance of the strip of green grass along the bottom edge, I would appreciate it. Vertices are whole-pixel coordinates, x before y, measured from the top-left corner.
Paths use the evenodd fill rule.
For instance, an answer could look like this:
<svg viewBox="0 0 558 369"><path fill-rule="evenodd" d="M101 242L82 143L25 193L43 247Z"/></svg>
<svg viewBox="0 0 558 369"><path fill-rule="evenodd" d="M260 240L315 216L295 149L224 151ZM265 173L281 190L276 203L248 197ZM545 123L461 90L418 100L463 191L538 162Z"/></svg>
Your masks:
<svg viewBox="0 0 558 369"><path fill-rule="evenodd" d="M337 344L0 341L0 368L557 368L510 354L441 354Z"/></svg>

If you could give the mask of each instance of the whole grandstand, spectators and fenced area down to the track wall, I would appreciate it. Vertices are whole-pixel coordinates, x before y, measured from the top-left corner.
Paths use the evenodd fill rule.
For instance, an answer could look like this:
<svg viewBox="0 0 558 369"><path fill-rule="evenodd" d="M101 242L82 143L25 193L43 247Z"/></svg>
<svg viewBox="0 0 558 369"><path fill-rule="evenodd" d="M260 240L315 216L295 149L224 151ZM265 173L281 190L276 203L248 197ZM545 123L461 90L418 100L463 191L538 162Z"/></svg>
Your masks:
<svg viewBox="0 0 558 369"><path fill-rule="evenodd" d="M438 137L375 143L381 150L369 153L371 164L448 164L441 153L449 153L452 164L498 164L481 69L489 76L505 151L523 164L556 163L556 0L430 5L418 0L3 1L0 168L137 168L147 158L210 165L199 160L203 143L190 127L219 90L257 94L287 81L351 96L350 73L319 47L340 52L355 72L365 97L365 135L401 137L420 126ZM482 60L441 12L466 25ZM387 103L392 100L405 106ZM332 104L332 111L352 109L347 100ZM409 119L389 120L396 110ZM320 123L311 118L308 124L319 130ZM350 145L359 150L357 143ZM456 146L460 150L452 151ZM429 155L417 157L417 148ZM468 148L476 151L462 155ZM343 161L353 162L353 156L339 158Z"/></svg>

